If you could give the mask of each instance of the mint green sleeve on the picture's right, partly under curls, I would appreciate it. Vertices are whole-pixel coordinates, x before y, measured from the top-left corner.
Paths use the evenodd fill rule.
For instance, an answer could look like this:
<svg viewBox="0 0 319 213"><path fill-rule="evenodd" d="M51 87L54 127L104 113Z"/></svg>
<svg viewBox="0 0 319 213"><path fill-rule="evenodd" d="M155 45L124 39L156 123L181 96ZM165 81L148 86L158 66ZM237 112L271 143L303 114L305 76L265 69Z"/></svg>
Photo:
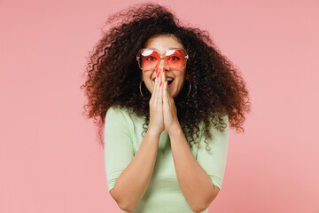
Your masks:
<svg viewBox="0 0 319 213"><path fill-rule="evenodd" d="M222 179L226 169L228 144L229 144L229 120L228 115L222 117L227 127L223 132L216 130L214 127L210 130L211 139L206 139L209 151L206 151L205 137L200 139L200 149L198 149L197 161L199 165L206 170L211 178L213 185L222 188ZM213 126L213 125L212 125Z"/></svg>

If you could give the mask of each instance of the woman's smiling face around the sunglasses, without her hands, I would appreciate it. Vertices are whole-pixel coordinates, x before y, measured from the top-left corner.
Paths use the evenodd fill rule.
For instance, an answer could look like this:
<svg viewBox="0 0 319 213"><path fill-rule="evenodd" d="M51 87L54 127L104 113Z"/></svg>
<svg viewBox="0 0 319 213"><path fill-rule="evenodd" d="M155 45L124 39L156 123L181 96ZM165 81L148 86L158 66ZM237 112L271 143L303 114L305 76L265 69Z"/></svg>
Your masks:
<svg viewBox="0 0 319 213"><path fill-rule="evenodd" d="M163 55L168 49L172 48L183 48L183 44L180 43L175 36L171 35L158 35L152 36L147 40L144 45L144 48L154 48L159 50L160 55ZM186 75L185 70L186 66L182 69L175 69L167 67L164 59L159 61L159 69L165 67L167 78L172 78L174 81L168 84L167 90L171 97L174 99L180 91L183 89L183 83L185 82ZM147 87L147 89L152 93L154 89L156 78L156 68L151 70L142 70L142 79Z"/></svg>

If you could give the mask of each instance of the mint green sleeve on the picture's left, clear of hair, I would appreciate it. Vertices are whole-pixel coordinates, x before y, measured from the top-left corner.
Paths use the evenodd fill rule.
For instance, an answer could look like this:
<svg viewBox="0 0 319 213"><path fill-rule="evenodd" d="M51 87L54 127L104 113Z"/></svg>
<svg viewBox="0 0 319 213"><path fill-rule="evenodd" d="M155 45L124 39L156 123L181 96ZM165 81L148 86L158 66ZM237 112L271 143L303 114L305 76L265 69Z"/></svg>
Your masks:
<svg viewBox="0 0 319 213"><path fill-rule="evenodd" d="M127 118L120 108L111 106L105 115L105 173L109 192L133 157Z"/></svg>

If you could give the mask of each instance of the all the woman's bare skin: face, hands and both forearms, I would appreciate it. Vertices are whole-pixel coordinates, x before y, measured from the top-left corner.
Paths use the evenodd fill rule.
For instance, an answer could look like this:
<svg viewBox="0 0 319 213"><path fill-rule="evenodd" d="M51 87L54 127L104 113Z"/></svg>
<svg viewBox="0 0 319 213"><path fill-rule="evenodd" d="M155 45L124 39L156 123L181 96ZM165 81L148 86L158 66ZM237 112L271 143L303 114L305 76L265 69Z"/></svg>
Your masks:
<svg viewBox="0 0 319 213"><path fill-rule="evenodd" d="M169 48L183 48L183 45L174 36L153 36L145 47L156 48L163 54ZM164 71L165 68L167 68L166 71ZM171 87L167 86L165 73L167 76L175 77L175 83ZM152 82L155 76L155 81ZM192 211L201 212L207 209L217 196L219 188L213 185L206 171L191 154L191 149L177 119L174 97L183 88L186 79L185 67L182 70L168 70L164 60L161 60L155 70L143 72L143 79L146 87L152 93L149 129L135 157L121 173L110 193L121 209L128 212L135 211L152 177L159 136L163 130L167 130L171 139L178 183ZM133 185L132 179L135 180Z"/></svg>

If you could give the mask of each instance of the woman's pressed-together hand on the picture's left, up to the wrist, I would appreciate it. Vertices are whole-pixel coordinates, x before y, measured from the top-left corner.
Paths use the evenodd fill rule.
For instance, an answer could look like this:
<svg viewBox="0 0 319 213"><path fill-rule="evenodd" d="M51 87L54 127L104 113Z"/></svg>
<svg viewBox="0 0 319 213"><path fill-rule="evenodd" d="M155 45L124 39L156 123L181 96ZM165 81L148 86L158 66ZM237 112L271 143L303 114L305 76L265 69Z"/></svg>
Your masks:
<svg viewBox="0 0 319 213"><path fill-rule="evenodd" d="M150 99L150 124L148 131L152 134L159 136L164 127L163 116L163 83L164 74L161 68L156 68L157 75L155 78L152 97Z"/></svg>

